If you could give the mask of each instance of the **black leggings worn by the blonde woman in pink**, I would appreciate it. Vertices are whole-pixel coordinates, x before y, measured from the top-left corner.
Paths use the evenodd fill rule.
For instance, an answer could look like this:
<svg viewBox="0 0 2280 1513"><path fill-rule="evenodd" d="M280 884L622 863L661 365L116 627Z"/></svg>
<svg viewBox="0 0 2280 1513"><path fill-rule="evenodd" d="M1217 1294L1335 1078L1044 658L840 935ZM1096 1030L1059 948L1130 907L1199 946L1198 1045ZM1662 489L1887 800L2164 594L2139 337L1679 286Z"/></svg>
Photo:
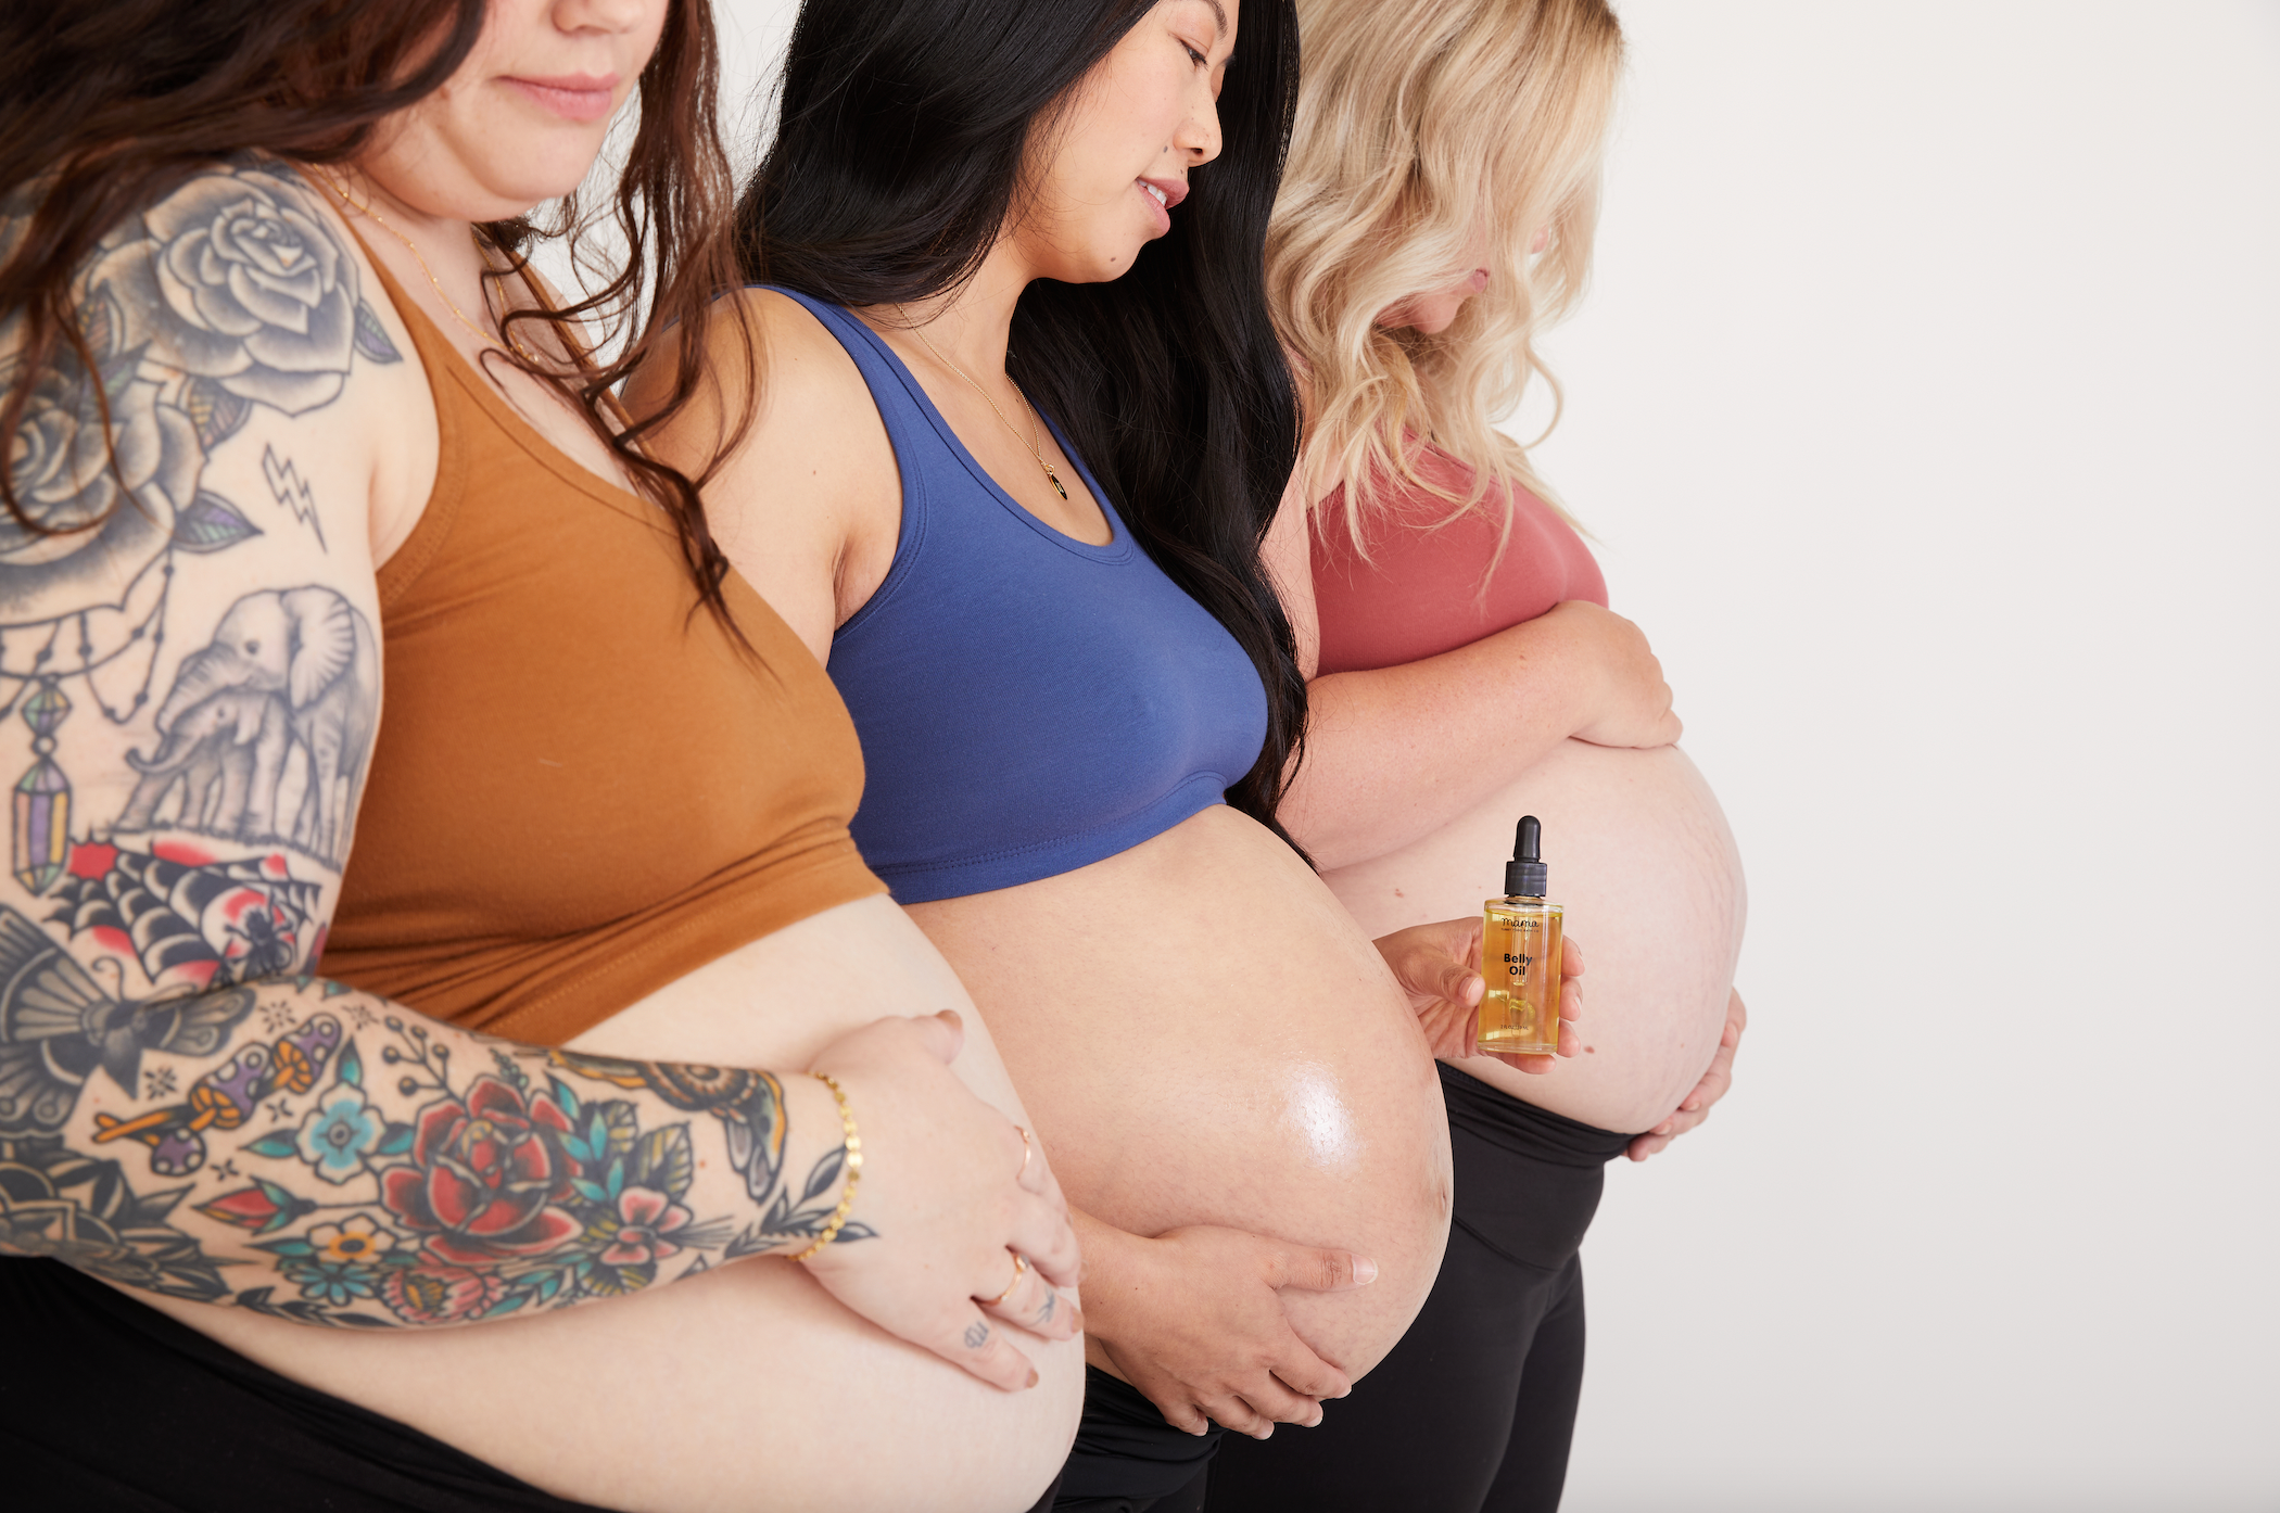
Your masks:
<svg viewBox="0 0 2280 1513"><path fill-rule="evenodd" d="M1318 1429L1227 1436L1211 1513L1553 1513L1582 1392L1582 1233L1630 1135L1441 1069L1457 1215L1432 1297Z"/></svg>

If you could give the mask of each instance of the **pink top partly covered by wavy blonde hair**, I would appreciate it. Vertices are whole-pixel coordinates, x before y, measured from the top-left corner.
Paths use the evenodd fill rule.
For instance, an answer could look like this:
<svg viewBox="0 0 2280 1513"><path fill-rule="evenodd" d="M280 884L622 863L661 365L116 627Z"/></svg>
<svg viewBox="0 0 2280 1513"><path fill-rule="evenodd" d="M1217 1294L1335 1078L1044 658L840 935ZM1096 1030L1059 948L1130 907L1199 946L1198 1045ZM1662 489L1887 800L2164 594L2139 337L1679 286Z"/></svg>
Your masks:
<svg viewBox="0 0 2280 1513"><path fill-rule="evenodd" d="M1425 447L1418 472L1461 492L1473 469ZM1439 656L1505 627L1534 620L1562 599L1607 604L1607 581L1575 529L1525 488L1512 490L1512 540L1482 595L1503 508L1489 499L1459 520L1448 499L1402 488L1363 517L1370 561L1345 529L1345 490L1313 510L1313 602L1322 618L1322 674L1370 672Z"/></svg>

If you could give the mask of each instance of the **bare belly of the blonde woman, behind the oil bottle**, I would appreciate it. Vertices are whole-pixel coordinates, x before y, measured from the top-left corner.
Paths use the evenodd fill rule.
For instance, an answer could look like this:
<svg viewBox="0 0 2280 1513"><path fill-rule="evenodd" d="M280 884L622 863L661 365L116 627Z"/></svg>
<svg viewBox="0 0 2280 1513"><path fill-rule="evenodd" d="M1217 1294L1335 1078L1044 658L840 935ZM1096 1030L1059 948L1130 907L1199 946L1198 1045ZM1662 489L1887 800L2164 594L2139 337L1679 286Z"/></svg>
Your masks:
<svg viewBox="0 0 2280 1513"><path fill-rule="evenodd" d="M1327 882L1373 937L1477 914L1503 891L1523 813L1544 820L1550 898L1589 966L1587 1050L1541 1078L1484 1057L1457 1066L1555 1114L1648 1130L1710 1064L1742 955L1742 857L1685 752L1566 741L1436 834Z"/></svg>

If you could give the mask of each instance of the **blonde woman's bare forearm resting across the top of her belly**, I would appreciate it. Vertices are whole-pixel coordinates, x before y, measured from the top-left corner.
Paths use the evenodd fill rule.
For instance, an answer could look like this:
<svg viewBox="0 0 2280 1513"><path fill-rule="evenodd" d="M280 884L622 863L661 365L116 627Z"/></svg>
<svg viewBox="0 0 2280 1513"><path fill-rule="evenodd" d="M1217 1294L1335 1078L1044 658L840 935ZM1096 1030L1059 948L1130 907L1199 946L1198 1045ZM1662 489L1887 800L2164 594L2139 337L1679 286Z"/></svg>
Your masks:
<svg viewBox="0 0 2280 1513"><path fill-rule="evenodd" d="M1466 813L1582 729L1589 688L1560 627L1306 686L1306 750L1279 818L1325 870L1384 857Z"/></svg>

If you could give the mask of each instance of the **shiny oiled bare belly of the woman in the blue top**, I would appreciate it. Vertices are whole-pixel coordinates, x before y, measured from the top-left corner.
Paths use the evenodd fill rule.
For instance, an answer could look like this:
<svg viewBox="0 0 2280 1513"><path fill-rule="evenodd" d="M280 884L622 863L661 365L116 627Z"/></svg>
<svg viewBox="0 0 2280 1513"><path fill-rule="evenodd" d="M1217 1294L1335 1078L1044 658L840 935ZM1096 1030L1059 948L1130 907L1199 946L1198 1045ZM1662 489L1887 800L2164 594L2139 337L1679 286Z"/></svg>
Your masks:
<svg viewBox="0 0 2280 1513"><path fill-rule="evenodd" d="M914 905L990 1028L1069 1201L1135 1235L1218 1224L1377 1260L1286 1292L1361 1374L1448 1242L1432 1057L1370 937L1268 829L1213 807L1088 868Z"/></svg>

